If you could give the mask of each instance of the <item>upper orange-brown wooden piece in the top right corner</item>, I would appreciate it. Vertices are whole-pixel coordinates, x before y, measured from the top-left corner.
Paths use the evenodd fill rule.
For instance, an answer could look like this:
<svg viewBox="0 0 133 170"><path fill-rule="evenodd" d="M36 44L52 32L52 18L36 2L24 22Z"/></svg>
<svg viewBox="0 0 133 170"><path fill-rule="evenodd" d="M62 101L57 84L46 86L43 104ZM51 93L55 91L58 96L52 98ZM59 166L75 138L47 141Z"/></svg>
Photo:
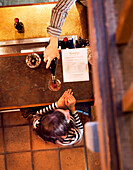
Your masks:
<svg viewBox="0 0 133 170"><path fill-rule="evenodd" d="M128 43L133 34L133 0L125 0L116 29L116 43Z"/></svg>

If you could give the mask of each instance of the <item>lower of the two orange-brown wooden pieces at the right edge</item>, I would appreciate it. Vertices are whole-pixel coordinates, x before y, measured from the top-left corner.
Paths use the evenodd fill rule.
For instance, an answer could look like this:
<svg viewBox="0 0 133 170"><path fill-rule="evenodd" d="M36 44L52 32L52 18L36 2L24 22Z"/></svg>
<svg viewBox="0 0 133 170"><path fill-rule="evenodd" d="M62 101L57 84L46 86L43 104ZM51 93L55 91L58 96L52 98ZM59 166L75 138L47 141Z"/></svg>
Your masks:
<svg viewBox="0 0 133 170"><path fill-rule="evenodd" d="M133 112L133 83L122 99L122 108L124 112Z"/></svg>

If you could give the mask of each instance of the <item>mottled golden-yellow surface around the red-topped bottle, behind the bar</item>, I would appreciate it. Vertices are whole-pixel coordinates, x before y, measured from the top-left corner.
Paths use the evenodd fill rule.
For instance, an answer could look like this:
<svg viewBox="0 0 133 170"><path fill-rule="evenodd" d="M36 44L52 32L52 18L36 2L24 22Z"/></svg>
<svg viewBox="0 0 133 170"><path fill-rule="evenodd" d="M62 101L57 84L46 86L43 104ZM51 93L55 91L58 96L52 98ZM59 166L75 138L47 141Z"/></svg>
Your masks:
<svg viewBox="0 0 133 170"><path fill-rule="evenodd" d="M55 4L0 8L0 41L48 37L47 26L50 24L51 10ZM81 5L73 5L62 27L61 35L83 37L83 34L85 34L83 27L86 24L84 19L81 19L84 13L83 9ZM18 33L15 30L14 18L19 18L20 22L24 24L24 33Z"/></svg>

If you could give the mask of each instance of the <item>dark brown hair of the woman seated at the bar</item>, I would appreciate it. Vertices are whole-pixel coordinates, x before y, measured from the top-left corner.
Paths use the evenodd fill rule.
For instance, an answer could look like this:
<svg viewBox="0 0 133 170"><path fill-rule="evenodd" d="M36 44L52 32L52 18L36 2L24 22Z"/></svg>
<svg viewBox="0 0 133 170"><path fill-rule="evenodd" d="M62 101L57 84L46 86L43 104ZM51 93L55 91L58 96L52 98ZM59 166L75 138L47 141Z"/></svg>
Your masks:
<svg viewBox="0 0 133 170"><path fill-rule="evenodd" d="M71 123L67 122L65 115L55 110L41 118L40 127L36 132L44 141L56 143L57 140L61 140L61 136L67 135L70 128Z"/></svg>

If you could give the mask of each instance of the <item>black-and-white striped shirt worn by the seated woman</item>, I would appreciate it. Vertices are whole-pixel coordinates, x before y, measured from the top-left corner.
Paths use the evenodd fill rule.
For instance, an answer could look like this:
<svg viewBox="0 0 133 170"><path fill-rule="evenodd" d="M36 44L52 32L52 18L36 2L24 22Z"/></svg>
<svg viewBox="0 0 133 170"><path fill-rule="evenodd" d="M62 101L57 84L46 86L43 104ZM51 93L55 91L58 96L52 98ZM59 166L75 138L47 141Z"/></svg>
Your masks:
<svg viewBox="0 0 133 170"><path fill-rule="evenodd" d="M52 111L54 109L57 109L57 104L52 103L51 105L45 106L38 110L35 115L33 115L33 128L37 129L40 124L40 119L41 117L47 112L47 111ZM71 128L68 131L67 136L62 137L60 141L57 141L58 144L61 145L72 145L75 143L78 143L81 141L82 136L83 136L83 125L79 119L77 111L74 111L70 115L70 121L73 122L75 125L74 128Z"/></svg>

